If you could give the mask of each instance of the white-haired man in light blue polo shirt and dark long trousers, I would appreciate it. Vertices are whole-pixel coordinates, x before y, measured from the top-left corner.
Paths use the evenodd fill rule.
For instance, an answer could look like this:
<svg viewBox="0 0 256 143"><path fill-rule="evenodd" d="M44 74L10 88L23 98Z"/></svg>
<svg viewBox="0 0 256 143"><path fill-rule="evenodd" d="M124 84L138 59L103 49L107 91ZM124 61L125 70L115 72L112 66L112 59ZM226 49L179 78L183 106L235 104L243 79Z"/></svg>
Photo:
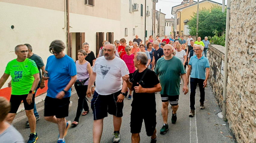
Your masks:
<svg viewBox="0 0 256 143"><path fill-rule="evenodd" d="M195 89L198 83L200 90L200 109L204 109L204 87L207 85L207 80L209 77L209 60L202 55L204 47L202 45L197 45L195 47L195 56L192 56L189 60L188 69L188 83L189 75L190 77L190 112L189 117L194 117L195 115ZM206 76L205 76L206 71Z"/></svg>

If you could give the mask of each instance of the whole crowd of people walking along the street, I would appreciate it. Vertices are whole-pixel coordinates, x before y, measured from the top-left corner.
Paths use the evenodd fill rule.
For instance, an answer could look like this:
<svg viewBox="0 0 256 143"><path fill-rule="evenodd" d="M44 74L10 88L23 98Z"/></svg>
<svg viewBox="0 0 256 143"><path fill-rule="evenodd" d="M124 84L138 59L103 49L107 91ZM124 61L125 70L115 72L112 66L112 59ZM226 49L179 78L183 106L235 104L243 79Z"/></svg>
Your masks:
<svg viewBox="0 0 256 143"><path fill-rule="evenodd" d="M93 112L93 142L100 143L103 132L103 119L113 115L113 142L120 142L120 128L123 117L123 101L126 97L132 100L130 114L130 132L132 143L140 142L142 122L145 122L147 136L151 143L157 142L156 136L156 98L160 92L162 101L163 127L165 134L168 126L168 105L172 108L171 123L177 121L180 85L182 91L188 93L190 77L190 112L195 115L195 89L200 90L200 109L204 109L204 88L209 77L209 61L207 50L209 41L198 37L194 41L191 36L187 40L178 34L167 35L164 39L153 36L143 44L138 35L126 45L126 39L115 40L114 44L103 41L97 58L89 50L89 43L83 43L83 49L77 51L78 60L74 61L64 53L65 44L54 40L49 46L46 66L42 58L32 51L30 44L17 45L17 58L11 60L0 79L0 89L11 76L8 83L11 89L10 103L0 97L0 140L3 142L24 142L20 133L11 125L18 107L23 100L30 127L28 143L38 139L36 121L39 115L36 110L35 95L39 88L45 88L48 80L47 95L44 103L44 119L58 125L58 143L65 143L64 137L71 125L79 124L80 115L87 115L91 102ZM188 70L186 72L186 66ZM181 81L183 80L183 82ZM74 121L66 121L70 101L71 87L79 97ZM105 86L108 85L108 86ZM132 92L133 91L133 92ZM132 94L133 93L133 94ZM91 98L89 101L87 98ZM143 102L141 102L143 101ZM150 106L148 106L150 105ZM84 112L83 112L84 111ZM57 126L56 126L57 127ZM15 134L15 138L11 138ZM10 140L8 140L10 139Z"/></svg>

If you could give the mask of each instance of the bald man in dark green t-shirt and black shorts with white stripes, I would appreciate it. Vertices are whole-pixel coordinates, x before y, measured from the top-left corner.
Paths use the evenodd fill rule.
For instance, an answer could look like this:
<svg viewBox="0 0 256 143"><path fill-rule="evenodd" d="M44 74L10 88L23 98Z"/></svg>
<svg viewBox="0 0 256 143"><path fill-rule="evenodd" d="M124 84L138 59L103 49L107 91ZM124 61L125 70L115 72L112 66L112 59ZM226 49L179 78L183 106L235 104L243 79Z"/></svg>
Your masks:
<svg viewBox="0 0 256 143"><path fill-rule="evenodd" d="M165 134L169 129L167 124L168 118L168 101L170 102L172 112L172 123L175 124L177 120L176 111L179 107L179 95L180 95L180 75L183 79L183 92L187 94L187 77L186 71L180 58L172 55L173 47L170 44L164 46L164 57L161 57L157 61L155 68L156 74L159 76L159 81L162 87L160 92L162 100L162 116L164 120L164 126L161 128L160 133Z"/></svg>

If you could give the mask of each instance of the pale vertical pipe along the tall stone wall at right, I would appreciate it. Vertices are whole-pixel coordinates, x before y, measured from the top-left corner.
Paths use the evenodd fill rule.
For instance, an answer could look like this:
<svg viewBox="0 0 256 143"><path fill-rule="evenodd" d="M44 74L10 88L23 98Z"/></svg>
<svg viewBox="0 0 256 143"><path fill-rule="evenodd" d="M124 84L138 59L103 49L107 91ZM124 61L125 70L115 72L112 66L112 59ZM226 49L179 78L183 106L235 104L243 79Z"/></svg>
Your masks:
<svg viewBox="0 0 256 143"><path fill-rule="evenodd" d="M224 87L223 87L223 119L226 120L226 94L227 94L227 62L228 62L228 42L229 42L229 15L230 15L230 0L227 0L227 15L226 15L226 38L225 38L225 60L224 60Z"/></svg>

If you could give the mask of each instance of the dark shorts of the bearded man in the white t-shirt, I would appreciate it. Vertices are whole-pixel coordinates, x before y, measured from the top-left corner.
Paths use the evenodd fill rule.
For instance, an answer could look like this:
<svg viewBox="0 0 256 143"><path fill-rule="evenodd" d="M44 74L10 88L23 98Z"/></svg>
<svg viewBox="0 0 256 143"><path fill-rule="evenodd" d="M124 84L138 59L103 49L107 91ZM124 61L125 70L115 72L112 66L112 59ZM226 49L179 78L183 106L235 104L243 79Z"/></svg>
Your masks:
<svg viewBox="0 0 256 143"><path fill-rule="evenodd" d="M99 95L96 91L92 97L91 108L93 112L93 120L103 119L108 113L116 117L123 116L123 102L117 102L117 96L121 90L111 95Z"/></svg>

